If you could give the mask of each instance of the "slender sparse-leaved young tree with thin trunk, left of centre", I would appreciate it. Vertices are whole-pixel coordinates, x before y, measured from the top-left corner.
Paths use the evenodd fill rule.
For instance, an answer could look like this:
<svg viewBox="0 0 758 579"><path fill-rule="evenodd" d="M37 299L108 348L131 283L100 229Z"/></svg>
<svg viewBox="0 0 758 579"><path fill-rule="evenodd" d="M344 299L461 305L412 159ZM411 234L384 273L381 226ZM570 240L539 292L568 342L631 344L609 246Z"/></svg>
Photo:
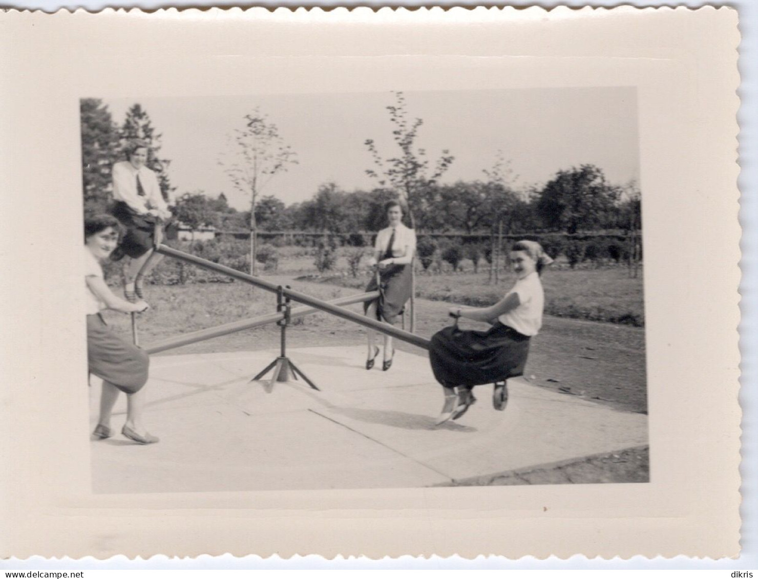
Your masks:
<svg viewBox="0 0 758 579"><path fill-rule="evenodd" d="M245 128L228 137L229 147L219 164L235 189L250 196L250 274L256 274L257 226L255 203L277 174L297 164L296 153L279 135L277 126L259 108L245 115Z"/></svg>

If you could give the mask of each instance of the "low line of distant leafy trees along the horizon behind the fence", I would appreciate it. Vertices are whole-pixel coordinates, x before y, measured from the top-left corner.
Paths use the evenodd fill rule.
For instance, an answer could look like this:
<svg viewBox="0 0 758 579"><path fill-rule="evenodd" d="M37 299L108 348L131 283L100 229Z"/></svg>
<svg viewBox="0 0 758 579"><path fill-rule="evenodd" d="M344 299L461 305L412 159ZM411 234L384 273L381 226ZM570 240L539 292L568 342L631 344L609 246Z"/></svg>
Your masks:
<svg viewBox="0 0 758 579"><path fill-rule="evenodd" d="M384 204L395 198L391 189L340 189L325 183L311 199L285 205L262 196L255 207L260 231L323 233L372 232L386 227ZM420 233L500 233L630 230L640 227L640 199L634 183L615 186L603 171L583 165L559 171L545 186L517 193L497 183L458 181L424 190L423 212L415 214ZM220 230L249 230L250 212L236 211L222 193L217 199L203 192L177 199L177 216L189 225L214 225Z"/></svg>

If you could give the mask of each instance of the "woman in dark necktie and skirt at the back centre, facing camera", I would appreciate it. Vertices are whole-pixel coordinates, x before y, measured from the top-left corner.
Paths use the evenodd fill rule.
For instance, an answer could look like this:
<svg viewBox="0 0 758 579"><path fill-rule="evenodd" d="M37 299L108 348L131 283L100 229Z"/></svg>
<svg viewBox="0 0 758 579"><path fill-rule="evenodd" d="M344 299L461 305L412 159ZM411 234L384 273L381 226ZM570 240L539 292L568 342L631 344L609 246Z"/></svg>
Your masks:
<svg viewBox="0 0 758 579"><path fill-rule="evenodd" d="M364 304L364 311L371 318L394 324L411 297L411 268L416 250L416 234L402 224L402 207L399 202L390 201L384 209L390 227L377 233L374 243L377 276L366 287L367 292L379 290L379 298ZM374 358L378 353L379 348L374 346L374 332L368 330L366 370L374 368ZM390 369L394 353L392 338L385 334L382 370Z"/></svg>

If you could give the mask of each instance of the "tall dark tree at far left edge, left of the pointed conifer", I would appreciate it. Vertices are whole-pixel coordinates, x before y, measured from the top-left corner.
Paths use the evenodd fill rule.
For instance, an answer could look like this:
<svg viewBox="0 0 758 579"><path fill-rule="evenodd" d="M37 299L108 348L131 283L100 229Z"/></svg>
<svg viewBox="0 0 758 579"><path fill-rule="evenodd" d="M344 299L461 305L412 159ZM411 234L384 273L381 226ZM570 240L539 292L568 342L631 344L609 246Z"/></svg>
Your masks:
<svg viewBox="0 0 758 579"><path fill-rule="evenodd" d="M82 189L86 213L102 213L111 202L111 167L118 157L116 125L101 99L81 99Z"/></svg>

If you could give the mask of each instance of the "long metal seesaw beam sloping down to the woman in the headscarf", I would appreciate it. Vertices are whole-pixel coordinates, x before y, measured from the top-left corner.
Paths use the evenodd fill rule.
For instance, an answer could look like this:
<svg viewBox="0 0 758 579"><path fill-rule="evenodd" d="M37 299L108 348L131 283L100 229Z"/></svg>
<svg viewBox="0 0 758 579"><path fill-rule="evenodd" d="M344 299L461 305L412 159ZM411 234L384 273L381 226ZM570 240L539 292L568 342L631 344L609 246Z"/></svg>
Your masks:
<svg viewBox="0 0 758 579"><path fill-rule="evenodd" d="M243 272L236 271L235 269L232 269L232 268L227 268L225 265L216 264L213 261L208 261L207 259L199 258L199 257L196 257L195 255L190 255L189 253L180 252L177 249L164 246L162 244L156 245L155 251L158 253L162 253L163 255L168 255L169 257L172 257L172 258L181 259L182 261L187 261L188 263L195 264L199 266L200 268L209 269L211 271L218 271L220 274L233 277L236 280L244 281L246 283L251 284L252 286L259 287L262 290L267 290L271 293L276 293L279 287L275 283L262 280L260 277L255 277L249 274L243 274ZM406 332L405 330L399 330L398 328L394 326L390 326L389 324L384 324L384 322L377 321L372 318L368 318L365 315L356 314L356 312L354 311L350 311L349 309L346 309L346 308L341 308L339 305L333 305L333 304L330 304L329 302L324 302L321 299L315 298L313 296L309 296L305 293L300 293L295 290L289 290L287 288L283 290L283 293L284 293L284 296L289 297L295 302L299 302L305 305L310 305L312 308L316 308L321 311L326 311L327 313L331 315L336 315L338 318L343 318L345 320L355 322L356 324L360 324L365 327L370 327L371 330L376 330L377 332L385 333L388 336L392 336L393 338L396 338L397 340L402 340L403 342L413 344L414 346L418 346L419 348L429 349L429 340L427 338L416 336L415 334Z"/></svg>

